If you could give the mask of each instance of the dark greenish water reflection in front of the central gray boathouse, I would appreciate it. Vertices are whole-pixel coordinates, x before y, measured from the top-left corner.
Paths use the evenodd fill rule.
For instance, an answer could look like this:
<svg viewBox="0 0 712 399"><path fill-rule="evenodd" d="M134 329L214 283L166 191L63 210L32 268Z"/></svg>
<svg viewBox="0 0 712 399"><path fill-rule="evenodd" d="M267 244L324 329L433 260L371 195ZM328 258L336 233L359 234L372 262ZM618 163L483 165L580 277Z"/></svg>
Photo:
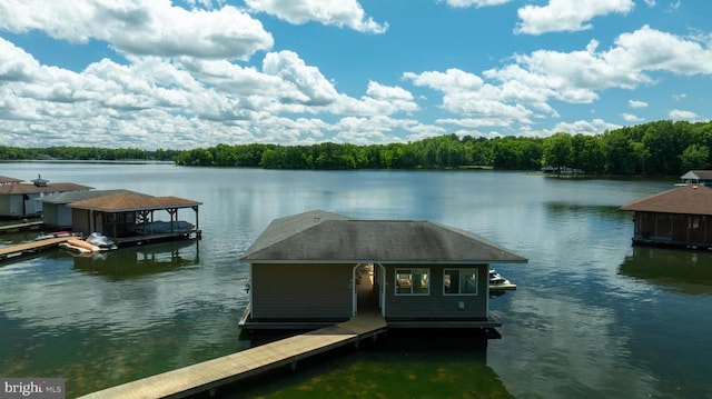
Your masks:
<svg viewBox="0 0 712 399"><path fill-rule="evenodd" d="M227 398L513 398L473 330L392 330L358 350L299 361L219 392Z"/></svg>

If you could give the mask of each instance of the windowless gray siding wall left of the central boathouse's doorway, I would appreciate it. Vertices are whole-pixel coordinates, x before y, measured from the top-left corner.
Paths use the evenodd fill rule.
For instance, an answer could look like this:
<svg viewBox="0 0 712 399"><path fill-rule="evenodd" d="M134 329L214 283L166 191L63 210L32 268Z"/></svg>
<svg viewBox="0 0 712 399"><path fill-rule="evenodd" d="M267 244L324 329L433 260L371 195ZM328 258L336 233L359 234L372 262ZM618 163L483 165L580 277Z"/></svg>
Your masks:
<svg viewBox="0 0 712 399"><path fill-rule="evenodd" d="M254 319L344 319L355 265L253 263Z"/></svg>

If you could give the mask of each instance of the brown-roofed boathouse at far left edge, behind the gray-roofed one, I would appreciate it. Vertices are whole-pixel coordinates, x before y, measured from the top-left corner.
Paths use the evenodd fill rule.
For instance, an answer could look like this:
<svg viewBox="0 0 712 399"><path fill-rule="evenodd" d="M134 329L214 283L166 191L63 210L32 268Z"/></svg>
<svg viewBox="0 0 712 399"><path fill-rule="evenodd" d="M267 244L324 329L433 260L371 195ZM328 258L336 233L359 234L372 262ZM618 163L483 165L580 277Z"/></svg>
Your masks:
<svg viewBox="0 0 712 399"><path fill-rule="evenodd" d="M34 218L43 212L42 198L61 192L88 191L91 187L76 183L50 183L38 176L31 183L0 176L0 218Z"/></svg>

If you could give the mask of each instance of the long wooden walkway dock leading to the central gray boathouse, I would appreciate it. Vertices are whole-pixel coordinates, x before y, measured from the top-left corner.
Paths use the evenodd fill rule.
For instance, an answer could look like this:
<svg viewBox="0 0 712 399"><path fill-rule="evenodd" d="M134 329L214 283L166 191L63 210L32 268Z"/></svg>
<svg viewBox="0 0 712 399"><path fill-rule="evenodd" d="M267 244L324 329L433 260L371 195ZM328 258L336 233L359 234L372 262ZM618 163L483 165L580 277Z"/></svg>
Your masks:
<svg viewBox="0 0 712 399"><path fill-rule="evenodd" d="M300 359L385 332L386 321L367 313L299 336L246 349L221 358L167 371L137 381L86 395L82 399L154 399L185 398L218 387L258 376L285 366L294 367Z"/></svg>

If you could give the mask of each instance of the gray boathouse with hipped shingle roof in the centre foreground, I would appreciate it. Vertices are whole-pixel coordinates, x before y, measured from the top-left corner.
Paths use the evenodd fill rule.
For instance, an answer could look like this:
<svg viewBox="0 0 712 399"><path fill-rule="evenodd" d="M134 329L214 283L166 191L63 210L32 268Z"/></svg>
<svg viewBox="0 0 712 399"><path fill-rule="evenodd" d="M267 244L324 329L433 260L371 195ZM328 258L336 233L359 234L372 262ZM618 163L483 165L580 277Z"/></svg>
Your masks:
<svg viewBox="0 0 712 399"><path fill-rule="evenodd" d="M240 259L250 266L246 329L324 327L373 308L389 328L498 327L490 317L488 267L527 261L431 221L322 210L274 220ZM370 300L357 293L364 279Z"/></svg>

